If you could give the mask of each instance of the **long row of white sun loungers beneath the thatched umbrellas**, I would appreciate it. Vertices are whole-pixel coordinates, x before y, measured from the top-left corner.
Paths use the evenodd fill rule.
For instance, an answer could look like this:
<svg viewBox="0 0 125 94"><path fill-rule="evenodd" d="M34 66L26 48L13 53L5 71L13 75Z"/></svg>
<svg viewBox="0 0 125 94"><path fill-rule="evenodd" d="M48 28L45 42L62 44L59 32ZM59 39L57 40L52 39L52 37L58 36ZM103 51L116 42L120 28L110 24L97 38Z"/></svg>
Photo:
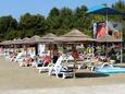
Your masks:
<svg viewBox="0 0 125 94"><path fill-rule="evenodd" d="M26 52L20 52L16 56L14 54L3 54L3 55L5 57L5 60L17 62L20 66L25 66L22 62L27 57L34 59L36 57L35 54L26 54ZM92 57L91 55L88 56L80 55L80 59L77 60L76 68L78 70L80 70L82 68L88 68L91 71L93 71L92 68L95 66L99 66L103 63L113 64L115 62L114 60L110 60L110 59L108 61L104 61L105 59L107 59L105 57L101 57L101 56ZM42 63L41 67L39 67L36 61L38 61L38 59L32 60L28 64L35 67L39 71L39 73L41 73L42 71L47 71L48 75L55 74L57 78L59 78L59 75L62 74L63 79L65 79L66 77L74 77L74 58L71 55L60 56L55 63L52 63L52 59L50 59L48 64ZM66 63L67 66L63 66L62 63Z"/></svg>

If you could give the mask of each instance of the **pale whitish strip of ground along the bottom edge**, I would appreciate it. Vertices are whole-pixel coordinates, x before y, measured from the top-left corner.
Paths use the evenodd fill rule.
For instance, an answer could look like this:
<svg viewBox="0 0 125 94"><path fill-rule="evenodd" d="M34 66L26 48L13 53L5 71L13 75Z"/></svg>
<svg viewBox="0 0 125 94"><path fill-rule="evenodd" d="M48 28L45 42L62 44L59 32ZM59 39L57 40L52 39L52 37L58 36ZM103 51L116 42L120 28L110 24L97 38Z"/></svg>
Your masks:
<svg viewBox="0 0 125 94"><path fill-rule="evenodd" d="M0 94L125 94L125 84L74 86L57 89L8 90Z"/></svg>

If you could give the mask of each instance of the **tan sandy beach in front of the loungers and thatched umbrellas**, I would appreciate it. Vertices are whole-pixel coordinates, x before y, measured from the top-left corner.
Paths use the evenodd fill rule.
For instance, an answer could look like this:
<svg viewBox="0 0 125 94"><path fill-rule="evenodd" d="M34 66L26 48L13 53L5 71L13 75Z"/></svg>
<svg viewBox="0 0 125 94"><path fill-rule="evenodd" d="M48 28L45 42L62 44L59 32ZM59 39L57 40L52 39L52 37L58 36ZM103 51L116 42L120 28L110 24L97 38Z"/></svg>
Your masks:
<svg viewBox="0 0 125 94"><path fill-rule="evenodd" d="M84 90L86 90L86 87L93 87L93 89L98 86L108 87L110 85L111 86L114 85L114 87L116 87L116 86L121 86L121 84L122 87L125 87L125 84L123 84L125 83L125 73L104 75L104 74L91 73L88 70L80 70L77 71L75 79L73 78L57 79L55 75L48 77L47 72L39 73L38 70L35 68L18 67L17 63L5 61L3 57L0 57L0 83L1 83L0 92L1 91L13 92L13 90L15 91L18 90L24 92L25 90L29 90L29 91L42 90L43 92L43 90L59 91L60 89L66 92L66 90L70 87L72 89L75 87L76 91L78 90L80 91L83 87ZM2 94L2 92L0 94ZM3 93L3 94L10 94L10 93ZM23 93L23 94L27 94L27 93ZM42 94L47 94L47 93L42 93ZM53 92L52 94L59 94L59 93ZM72 93L72 94L76 94L76 93Z"/></svg>

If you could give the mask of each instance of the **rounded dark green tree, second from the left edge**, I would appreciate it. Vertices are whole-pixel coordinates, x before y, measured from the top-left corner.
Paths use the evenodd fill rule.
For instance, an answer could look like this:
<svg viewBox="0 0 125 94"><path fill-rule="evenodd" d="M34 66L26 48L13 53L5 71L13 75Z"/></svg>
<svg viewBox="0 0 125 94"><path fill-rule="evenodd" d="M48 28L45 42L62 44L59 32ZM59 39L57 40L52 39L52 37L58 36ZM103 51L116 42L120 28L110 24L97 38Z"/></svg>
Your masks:
<svg viewBox="0 0 125 94"><path fill-rule="evenodd" d="M38 34L42 35L45 34L45 31L47 30L45 16L40 14L32 15L29 13L26 13L21 16L20 27L24 33L26 33L27 31L30 31L35 35L38 35Z"/></svg>

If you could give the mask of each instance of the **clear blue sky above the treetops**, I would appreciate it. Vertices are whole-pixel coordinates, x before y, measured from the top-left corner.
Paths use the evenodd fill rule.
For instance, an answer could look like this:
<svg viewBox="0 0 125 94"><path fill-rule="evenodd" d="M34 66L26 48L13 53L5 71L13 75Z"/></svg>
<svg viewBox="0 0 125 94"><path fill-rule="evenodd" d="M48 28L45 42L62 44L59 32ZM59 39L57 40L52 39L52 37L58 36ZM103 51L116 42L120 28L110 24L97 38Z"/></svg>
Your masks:
<svg viewBox="0 0 125 94"><path fill-rule="evenodd" d="M53 7L75 9L83 4L90 8L102 3L108 3L108 7L111 7L116 1L118 0L0 0L0 16L12 15L18 20L26 12L48 16Z"/></svg>

